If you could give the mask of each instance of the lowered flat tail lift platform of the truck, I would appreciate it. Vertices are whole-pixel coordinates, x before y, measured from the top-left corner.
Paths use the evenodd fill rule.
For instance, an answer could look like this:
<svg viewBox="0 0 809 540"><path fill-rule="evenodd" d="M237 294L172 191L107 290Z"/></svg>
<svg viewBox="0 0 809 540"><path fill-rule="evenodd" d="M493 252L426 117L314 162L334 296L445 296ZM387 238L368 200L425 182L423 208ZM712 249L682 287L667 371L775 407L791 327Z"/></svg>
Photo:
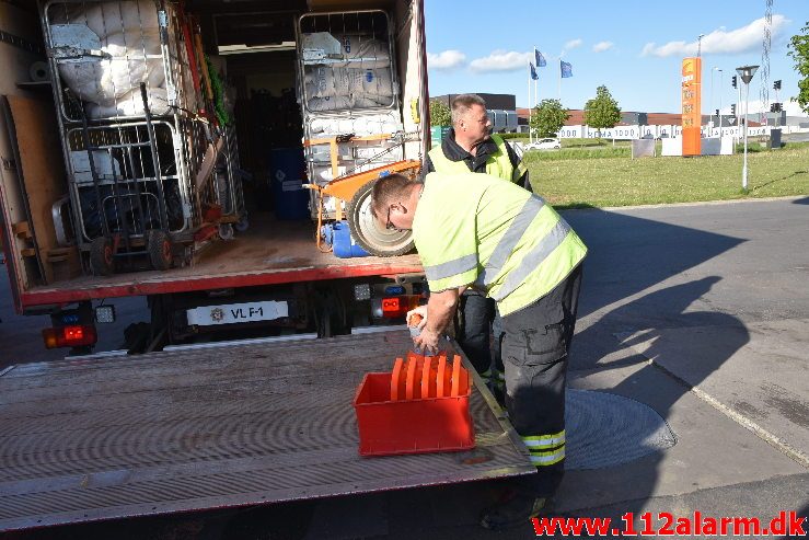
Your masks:
<svg viewBox="0 0 809 540"><path fill-rule="evenodd" d="M473 450L359 456L356 389L411 345L400 328L12 367L0 372L0 530L534 472L476 375Z"/></svg>

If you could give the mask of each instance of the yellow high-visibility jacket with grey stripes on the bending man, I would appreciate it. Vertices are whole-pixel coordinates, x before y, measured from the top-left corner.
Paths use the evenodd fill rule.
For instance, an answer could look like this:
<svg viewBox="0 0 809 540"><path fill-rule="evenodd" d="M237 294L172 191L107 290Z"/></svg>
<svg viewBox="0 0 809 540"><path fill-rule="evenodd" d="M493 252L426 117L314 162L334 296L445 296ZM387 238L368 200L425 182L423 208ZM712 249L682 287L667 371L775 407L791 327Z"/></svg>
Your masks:
<svg viewBox="0 0 809 540"><path fill-rule="evenodd" d="M541 197L471 172L427 175L413 237L430 290L473 285L504 317L545 296L587 254Z"/></svg>

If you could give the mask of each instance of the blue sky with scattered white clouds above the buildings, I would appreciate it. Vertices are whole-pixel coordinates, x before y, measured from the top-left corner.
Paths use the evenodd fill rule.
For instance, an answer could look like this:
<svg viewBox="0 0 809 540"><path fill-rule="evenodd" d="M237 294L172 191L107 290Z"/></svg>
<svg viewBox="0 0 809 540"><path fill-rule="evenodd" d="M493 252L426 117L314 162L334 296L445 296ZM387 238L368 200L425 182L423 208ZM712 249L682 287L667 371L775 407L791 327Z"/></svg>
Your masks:
<svg viewBox="0 0 809 540"><path fill-rule="evenodd" d="M765 0L425 0L430 94L510 93L525 106L536 47L547 59L538 69L540 100L582 108L604 84L624 111L678 113L680 66L698 45L703 112L720 100L728 112L736 68L762 64L764 12ZM772 13L768 99L781 79L779 101L797 114L788 99L799 74L787 44L809 21L809 0L774 0ZM559 80L559 59L573 65L571 78ZM750 84L751 113L760 97L761 70Z"/></svg>

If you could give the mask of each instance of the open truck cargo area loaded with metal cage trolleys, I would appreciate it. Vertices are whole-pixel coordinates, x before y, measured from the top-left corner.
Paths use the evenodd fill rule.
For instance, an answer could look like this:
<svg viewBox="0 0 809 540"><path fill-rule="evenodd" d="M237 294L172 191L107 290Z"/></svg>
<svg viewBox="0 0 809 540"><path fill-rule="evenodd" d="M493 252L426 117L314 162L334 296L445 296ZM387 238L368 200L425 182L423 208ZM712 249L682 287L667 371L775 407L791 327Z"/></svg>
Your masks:
<svg viewBox="0 0 809 540"><path fill-rule="evenodd" d="M350 223L351 249L358 235L378 248L360 254L411 252L409 232L369 217L367 189L327 187L360 173L370 186L395 163L415 174L429 143L420 2L335 7L10 8L32 44L9 53L0 84L0 150L14 157L0 241L18 311L419 272L415 255L344 260L315 244Z"/></svg>

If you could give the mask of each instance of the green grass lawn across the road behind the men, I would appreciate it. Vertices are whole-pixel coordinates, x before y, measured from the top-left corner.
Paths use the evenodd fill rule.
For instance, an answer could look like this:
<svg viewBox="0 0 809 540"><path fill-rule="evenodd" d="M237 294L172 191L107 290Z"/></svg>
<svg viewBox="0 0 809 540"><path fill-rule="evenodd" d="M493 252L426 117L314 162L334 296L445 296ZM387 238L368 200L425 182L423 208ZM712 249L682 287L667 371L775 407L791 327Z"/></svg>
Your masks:
<svg viewBox="0 0 809 540"><path fill-rule="evenodd" d="M809 145L806 143L749 152L747 193L741 189L741 153L633 160L628 152L617 157L600 156L600 159L573 156L575 152L589 153L588 150L571 149L569 152L571 156L564 158L564 148L524 156L534 191L560 208L809 195ZM558 157L544 157L553 153Z"/></svg>

